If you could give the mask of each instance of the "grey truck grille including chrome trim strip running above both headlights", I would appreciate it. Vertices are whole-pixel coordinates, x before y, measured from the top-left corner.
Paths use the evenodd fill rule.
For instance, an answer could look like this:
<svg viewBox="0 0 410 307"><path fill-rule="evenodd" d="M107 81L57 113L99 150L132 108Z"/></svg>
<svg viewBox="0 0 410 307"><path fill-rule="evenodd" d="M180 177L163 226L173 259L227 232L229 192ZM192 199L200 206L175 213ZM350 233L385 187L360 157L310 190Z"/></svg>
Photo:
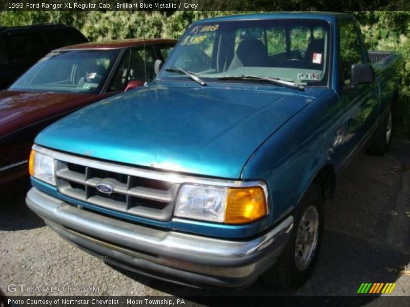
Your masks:
<svg viewBox="0 0 410 307"><path fill-rule="evenodd" d="M232 188L260 186L269 204L268 187L261 181L192 177L72 155L38 145L34 145L33 150L54 159L55 182L61 194L133 215L171 220L179 187L186 183ZM109 182L113 192L99 192L96 186L101 182Z"/></svg>

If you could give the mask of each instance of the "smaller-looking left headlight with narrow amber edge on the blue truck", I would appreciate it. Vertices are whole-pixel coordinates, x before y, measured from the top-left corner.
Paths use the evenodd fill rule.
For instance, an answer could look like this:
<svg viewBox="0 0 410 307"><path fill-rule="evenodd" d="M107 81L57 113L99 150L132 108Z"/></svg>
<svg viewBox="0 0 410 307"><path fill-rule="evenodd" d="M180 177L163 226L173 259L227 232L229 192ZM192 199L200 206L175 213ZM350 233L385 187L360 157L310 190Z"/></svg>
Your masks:
<svg viewBox="0 0 410 307"><path fill-rule="evenodd" d="M29 173L34 178L55 185L54 159L31 150Z"/></svg>

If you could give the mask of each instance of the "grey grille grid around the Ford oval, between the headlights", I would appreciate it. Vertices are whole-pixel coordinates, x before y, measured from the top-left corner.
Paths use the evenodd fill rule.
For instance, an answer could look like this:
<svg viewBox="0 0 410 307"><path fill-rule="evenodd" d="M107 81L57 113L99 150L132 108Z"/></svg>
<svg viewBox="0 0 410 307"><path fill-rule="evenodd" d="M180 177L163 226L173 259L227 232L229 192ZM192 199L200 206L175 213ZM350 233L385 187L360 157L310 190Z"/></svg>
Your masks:
<svg viewBox="0 0 410 307"><path fill-rule="evenodd" d="M93 167L87 160L56 161L56 185L61 194L133 215L161 221L171 219L178 183L135 176L127 166L116 165L118 171L113 167L104 168L112 164L100 162L101 167ZM85 163L80 164L81 161ZM96 186L101 183L109 184L113 192L106 194L97 190Z"/></svg>

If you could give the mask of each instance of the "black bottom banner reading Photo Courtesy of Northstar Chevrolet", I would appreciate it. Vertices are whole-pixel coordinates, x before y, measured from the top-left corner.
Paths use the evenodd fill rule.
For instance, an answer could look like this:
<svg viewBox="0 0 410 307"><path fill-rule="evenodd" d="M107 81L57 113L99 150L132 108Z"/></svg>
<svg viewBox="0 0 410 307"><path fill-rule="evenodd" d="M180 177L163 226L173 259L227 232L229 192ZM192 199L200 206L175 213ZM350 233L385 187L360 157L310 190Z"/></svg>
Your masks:
<svg viewBox="0 0 410 307"><path fill-rule="evenodd" d="M241 297L241 296L198 296L198 297L175 297L175 296L117 296L117 297L70 297L70 296L25 296L25 297L0 297L4 307L148 307L148 306L363 306L368 303L376 303L381 306L408 306L408 297L380 297L377 295L357 295L348 297ZM0 306L2 303L0 302Z"/></svg>

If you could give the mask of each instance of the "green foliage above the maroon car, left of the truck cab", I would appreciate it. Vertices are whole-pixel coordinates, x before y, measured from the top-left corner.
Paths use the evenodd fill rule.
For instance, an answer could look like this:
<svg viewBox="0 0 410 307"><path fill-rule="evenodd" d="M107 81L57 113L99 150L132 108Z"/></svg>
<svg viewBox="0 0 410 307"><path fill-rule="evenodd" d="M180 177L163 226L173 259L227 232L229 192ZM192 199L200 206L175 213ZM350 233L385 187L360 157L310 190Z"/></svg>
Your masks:
<svg viewBox="0 0 410 307"><path fill-rule="evenodd" d="M90 40L133 37L179 38L197 19L231 14L232 12L128 12L128 11L61 11L0 12L0 25L6 27L38 23L63 23L79 29Z"/></svg>

